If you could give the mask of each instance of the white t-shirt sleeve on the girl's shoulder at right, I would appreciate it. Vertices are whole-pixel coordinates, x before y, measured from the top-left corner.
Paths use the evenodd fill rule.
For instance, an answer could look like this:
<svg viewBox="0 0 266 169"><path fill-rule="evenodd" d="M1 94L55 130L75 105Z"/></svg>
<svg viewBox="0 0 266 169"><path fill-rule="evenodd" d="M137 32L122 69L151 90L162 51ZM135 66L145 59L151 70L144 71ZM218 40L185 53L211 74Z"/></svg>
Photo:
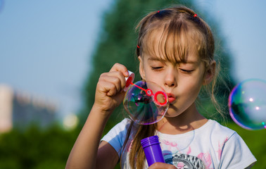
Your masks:
<svg viewBox="0 0 266 169"><path fill-rule="evenodd" d="M222 149L221 169L248 168L256 159L243 139L234 132Z"/></svg>

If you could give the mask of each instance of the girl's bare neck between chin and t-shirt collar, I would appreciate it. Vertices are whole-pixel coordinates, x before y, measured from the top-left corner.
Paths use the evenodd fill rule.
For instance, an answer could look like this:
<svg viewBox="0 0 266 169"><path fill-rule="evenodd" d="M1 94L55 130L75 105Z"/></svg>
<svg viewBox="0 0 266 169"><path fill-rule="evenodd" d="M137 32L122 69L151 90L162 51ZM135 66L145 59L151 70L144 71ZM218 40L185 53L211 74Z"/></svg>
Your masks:
<svg viewBox="0 0 266 169"><path fill-rule="evenodd" d="M195 130L207 122L208 120L196 110L196 105L192 104L176 117L164 117L157 123L157 130L165 134L182 134Z"/></svg>

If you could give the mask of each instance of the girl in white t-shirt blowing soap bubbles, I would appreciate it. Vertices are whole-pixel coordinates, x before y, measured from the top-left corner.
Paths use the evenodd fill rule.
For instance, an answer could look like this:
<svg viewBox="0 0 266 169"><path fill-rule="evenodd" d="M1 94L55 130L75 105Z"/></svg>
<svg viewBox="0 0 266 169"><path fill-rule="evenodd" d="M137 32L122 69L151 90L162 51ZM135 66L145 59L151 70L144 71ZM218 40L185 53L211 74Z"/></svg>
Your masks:
<svg viewBox="0 0 266 169"><path fill-rule="evenodd" d="M163 87L170 107L154 125L125 119L101 139L108 117L125 96L127 68L116 63L99 78L94 106L67 168L114 168L119 161L121 168L148 168L140 140L154 134L160 138L165 163L150 169L251 168L255 157L239 134L204 118L196 108L201 87L215 83L215 46L208 25L179 6L149 13L137 28L141 78Z"/></svg>

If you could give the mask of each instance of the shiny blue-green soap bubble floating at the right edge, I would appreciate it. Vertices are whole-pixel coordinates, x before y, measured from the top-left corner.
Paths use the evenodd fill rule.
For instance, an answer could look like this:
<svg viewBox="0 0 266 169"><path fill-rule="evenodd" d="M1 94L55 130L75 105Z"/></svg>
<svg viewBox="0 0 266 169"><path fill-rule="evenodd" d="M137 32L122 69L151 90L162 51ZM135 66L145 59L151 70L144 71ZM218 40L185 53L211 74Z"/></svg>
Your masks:
<svg viewBox="0 0 266 169"><path fill-rule="evenodd" d="M266 128L266 82L245 80L229 95L229 113L236 124L248 130Z"/></svg>

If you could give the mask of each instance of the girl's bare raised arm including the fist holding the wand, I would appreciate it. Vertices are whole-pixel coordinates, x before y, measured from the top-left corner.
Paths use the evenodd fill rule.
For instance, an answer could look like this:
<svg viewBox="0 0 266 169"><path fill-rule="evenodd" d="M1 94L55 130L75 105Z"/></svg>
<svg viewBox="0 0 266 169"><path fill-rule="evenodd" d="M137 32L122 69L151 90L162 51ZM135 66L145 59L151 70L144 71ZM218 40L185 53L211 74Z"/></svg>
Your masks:
<svg viewBox="0 0 266 169"><path fill-rule="evenodd" d="M75 145L70 152L66 168L96 168L96 156L103 129L112 111L122 103L125 96L125 77L128 76L127 68L116 63L108 73L102 73L96 86L94 106L87 118ZM107 146L110 148L110 146ZM103 149L106 151L108 148ZM112 148L100 154L115 156L110 165L118 161L117 152Z"/></svg>

